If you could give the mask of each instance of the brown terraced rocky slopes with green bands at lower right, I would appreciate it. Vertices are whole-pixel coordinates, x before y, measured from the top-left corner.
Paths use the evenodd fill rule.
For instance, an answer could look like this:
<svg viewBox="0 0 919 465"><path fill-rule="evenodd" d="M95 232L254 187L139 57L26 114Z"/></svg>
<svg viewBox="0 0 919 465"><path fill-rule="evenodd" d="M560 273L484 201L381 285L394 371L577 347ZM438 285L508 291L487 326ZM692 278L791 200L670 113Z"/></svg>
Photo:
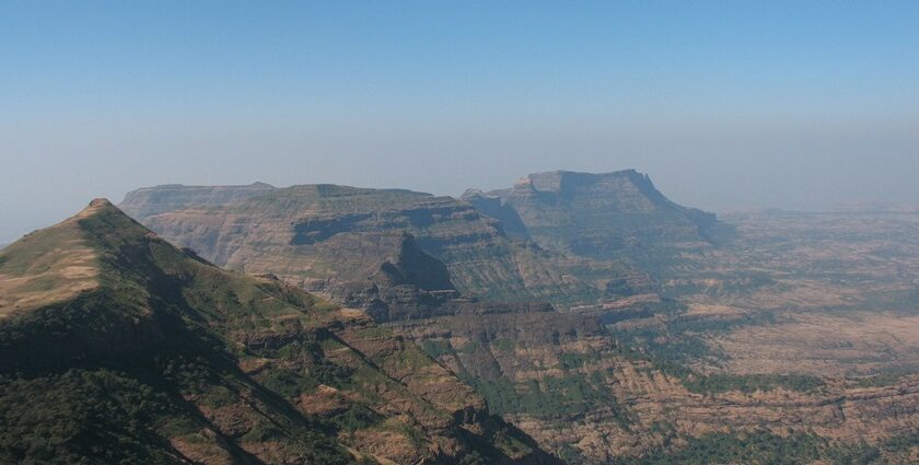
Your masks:
<svg viewBox="0 0 919 465"><path fill-rule="evenodd" d="M666 358L653 340L610 337L602 319L528 312L388 326L568 463L705 464L719 451L717 463L906 464L919 454L919 376L706 373L686 363L694 346L673 341Z"/></svg>

